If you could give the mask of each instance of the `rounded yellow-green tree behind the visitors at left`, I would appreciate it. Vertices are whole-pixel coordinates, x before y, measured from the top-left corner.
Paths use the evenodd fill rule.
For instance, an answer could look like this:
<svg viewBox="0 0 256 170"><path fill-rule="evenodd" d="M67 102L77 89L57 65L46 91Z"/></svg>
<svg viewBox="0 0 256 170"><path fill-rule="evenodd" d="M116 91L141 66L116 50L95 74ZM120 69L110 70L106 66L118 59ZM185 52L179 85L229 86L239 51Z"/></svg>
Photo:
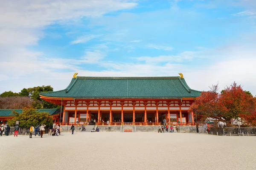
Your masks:
<svg viewBox="0 0 256 170"><path fill-rule="evenodd" d="M20 127L30 127L31 125L51 125L52 116L49 116L48 112L38 112L35 108L24 108L22 113L12 112L14 118L8 120L10 126L15 126L16 121L19 121Z"/></svg>

